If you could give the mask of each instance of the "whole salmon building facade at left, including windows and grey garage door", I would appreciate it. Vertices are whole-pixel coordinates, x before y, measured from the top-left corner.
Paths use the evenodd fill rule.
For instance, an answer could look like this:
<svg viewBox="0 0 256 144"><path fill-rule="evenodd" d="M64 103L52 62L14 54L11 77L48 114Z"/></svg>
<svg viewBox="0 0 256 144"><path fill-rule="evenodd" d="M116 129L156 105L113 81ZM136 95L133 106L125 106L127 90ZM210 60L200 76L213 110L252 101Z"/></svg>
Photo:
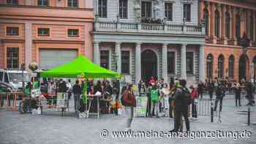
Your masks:
<svg viewBox="0 0 256 144"><path fill-rule="evenodd" d="M93 59L93 0L0 0L0 69Z"/></svg>

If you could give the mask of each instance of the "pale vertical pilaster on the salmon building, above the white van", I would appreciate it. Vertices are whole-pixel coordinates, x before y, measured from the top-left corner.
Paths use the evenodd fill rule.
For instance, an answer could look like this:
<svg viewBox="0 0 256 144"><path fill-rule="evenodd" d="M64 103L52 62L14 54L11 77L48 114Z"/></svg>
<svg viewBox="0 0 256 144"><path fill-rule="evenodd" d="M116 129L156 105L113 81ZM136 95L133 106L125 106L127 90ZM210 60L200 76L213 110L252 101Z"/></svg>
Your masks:
<svg viewBox="0 0 256 144"><path fill-rule="evenodd" d="M25 23L25 69L29 70L32 62L32 24ZM37 61L39 63L39 61Z"/></svg>

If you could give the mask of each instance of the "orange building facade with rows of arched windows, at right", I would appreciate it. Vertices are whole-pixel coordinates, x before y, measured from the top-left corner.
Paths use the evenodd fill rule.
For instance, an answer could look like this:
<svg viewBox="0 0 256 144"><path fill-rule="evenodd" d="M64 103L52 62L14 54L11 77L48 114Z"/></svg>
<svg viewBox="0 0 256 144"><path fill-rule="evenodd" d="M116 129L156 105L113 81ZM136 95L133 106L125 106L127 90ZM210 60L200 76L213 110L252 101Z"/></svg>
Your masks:
<svg viewBox="0 0 256 144"><path fill-rule="evenodd" d="M202 0L206 25L206 78L250 80L255 77L256 1ZM250 40L243 49L243 36Z"/></svg>

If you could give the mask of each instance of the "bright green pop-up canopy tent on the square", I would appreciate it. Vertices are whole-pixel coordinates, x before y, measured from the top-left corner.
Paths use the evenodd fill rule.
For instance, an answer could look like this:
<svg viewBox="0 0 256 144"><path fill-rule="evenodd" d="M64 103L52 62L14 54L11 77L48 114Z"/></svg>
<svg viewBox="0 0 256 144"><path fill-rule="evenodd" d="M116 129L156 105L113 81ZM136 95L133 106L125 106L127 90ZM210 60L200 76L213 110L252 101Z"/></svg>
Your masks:
<svg viewBox="0 0 256 144"><path fill-rule="evenodd" d="M78 56L73 61L63 64L59 67L40 72L40 77L78 77L83 75L84 78L121 78L121 74L113 72L91 62L85 56ZM86 83L83 86L83 104L87 103Z"/></svg>

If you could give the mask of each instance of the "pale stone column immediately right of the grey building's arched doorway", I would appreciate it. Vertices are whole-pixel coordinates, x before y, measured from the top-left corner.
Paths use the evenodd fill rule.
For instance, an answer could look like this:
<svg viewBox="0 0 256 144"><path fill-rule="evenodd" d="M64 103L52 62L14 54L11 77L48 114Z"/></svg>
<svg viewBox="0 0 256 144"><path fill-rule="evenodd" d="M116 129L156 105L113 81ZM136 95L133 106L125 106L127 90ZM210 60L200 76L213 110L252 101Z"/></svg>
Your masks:
<svg viewBox="0 0 256 144"><path fill-rule="evenodd" d="M167 82L167 44L162 44L162 77L165 79L165 82Z"/></svg>

